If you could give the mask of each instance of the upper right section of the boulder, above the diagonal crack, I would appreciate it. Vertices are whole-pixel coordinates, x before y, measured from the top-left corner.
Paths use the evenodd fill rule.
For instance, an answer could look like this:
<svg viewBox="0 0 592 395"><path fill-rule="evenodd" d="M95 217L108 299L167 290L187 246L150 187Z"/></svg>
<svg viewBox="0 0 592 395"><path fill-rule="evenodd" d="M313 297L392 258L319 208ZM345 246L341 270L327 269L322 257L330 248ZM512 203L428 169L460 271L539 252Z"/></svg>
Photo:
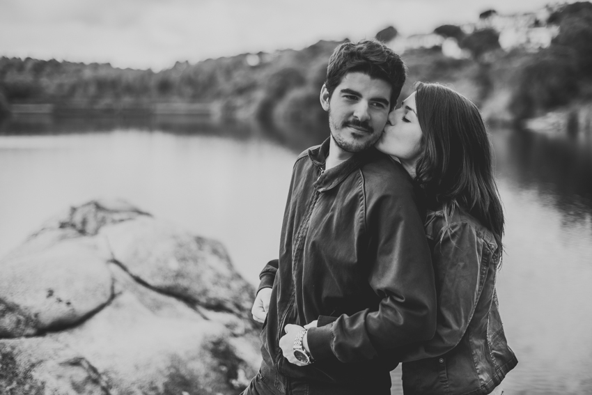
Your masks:
<svg viewBox="0 0 592 395"><path fill-rule="evenodd" d="M251 288L219 243L151 217L105 226L100 235L115 260L140 281L206 309L249 312L251 300L244 295Z"/></svg>

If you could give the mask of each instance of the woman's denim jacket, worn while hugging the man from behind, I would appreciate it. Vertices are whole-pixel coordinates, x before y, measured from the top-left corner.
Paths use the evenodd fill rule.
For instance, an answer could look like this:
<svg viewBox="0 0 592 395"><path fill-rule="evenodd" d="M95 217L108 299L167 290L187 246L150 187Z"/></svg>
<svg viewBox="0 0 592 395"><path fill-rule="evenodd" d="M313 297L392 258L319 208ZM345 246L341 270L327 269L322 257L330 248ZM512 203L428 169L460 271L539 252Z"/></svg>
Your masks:
<svg viewBox="0 0 592 395"><path fill-rule="evenodd" d="M412 394L489 394L517 364L499 316L500 251L490 231L462 210L428 212L426 234L437 291L430 341L405 348L403 390Z"/></svg>

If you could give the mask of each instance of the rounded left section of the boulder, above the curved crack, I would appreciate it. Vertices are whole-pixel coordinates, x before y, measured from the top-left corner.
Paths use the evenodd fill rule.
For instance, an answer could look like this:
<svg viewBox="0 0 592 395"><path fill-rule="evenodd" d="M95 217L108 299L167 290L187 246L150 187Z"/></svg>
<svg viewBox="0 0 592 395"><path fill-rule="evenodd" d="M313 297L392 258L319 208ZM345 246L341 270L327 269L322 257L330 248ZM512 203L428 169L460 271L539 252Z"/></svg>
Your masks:
<svg viewBox="0 0 592 395"><path fill-rule="evenodd" d="M20 249L0 261L0 336L72 325L111 299L107 261L87 241L69 239L31 254Z"/></svg>

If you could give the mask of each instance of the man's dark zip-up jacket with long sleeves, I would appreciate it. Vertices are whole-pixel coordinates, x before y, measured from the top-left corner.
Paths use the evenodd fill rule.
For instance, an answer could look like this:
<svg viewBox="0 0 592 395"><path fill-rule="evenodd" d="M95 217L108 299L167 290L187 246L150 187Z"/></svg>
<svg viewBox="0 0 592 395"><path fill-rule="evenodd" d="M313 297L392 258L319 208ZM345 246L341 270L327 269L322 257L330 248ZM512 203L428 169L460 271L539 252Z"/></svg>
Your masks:
<svg viewBox="0 0 592 395"><path fill-rule="evenodd" d="M263 359L292 378L389 380L394 348L430 339L436 294L421 210L403 166L375 148L323 172L329 139L299 155L283 217L279 261L260 274L272 287ZM286 324L308 333L316 362L290 364ZM323 326L324 325L324 326Z"/></svg>

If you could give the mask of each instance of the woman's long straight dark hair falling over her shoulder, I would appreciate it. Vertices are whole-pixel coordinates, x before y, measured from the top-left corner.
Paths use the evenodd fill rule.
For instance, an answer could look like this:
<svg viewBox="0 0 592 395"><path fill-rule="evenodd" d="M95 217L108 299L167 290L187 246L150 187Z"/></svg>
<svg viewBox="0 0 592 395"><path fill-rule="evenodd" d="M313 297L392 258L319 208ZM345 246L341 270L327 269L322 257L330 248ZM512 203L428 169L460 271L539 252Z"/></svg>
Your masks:
<svg viewBox="0 0 592 395"><path fill-rule="evenodd" d="M444 218L459 206L494 235L501 258L504 212L493 175L492 147L481 113L471 100L440 84L416 85L423 155L416 180L428 205Z"/></svg>

